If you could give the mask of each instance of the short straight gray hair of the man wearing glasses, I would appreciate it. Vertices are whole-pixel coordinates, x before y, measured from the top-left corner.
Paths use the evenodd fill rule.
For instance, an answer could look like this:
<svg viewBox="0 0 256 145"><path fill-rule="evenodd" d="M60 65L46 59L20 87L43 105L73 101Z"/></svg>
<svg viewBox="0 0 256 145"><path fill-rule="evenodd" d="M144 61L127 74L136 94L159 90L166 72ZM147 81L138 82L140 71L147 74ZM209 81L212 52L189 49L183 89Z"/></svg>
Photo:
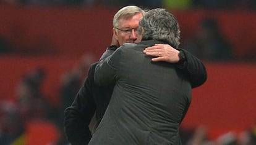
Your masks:
<svg viewBox="0 0 256 145"><path fill-rule="evenodd" d="M118 12L114 15L113 27L118 28L120 18L128 19L138 13L141 13L142 15L144 15L145 11L137 6L123 7L122 9L118 10Z"/></svg>

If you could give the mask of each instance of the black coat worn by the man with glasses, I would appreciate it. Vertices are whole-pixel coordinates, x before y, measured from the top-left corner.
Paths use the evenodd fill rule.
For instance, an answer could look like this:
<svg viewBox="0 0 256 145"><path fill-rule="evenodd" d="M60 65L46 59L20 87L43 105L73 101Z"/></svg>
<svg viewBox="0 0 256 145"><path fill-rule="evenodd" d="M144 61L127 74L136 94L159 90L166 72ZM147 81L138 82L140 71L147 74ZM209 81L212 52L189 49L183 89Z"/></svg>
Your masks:
<svg viewBox="0 0 256 145"><path fill-rule="evenodd" d="M103 59L111 55L115 47L109 47L103 54ZM189 77L192 88L202 85L207 80L207 72L203 63L186 50L182 50L186 55L184 64L179 64L177 68ZM94 82L94 63L90 66L84 85L75 96L72 105L65 111L64 127L70 143L87 144L90 141L91 133L88 128L90 120L95 113L96 126L100 123L110 97L113 92L113 85L100 87ZM96 112L95 112L96 111Z"/></svg>

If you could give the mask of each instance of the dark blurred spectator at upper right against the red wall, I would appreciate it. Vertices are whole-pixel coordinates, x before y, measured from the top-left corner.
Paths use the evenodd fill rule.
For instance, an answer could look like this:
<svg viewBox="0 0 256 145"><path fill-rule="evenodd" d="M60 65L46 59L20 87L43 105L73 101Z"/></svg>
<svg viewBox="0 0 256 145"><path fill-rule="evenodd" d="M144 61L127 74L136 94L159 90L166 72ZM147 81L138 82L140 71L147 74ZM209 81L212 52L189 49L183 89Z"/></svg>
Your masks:
<svg viewBox="0 0 256 145"><path fill-rule="evenodd" d="M182 47L201 60L233 60L231 45L224 39L218 23L213 18L205 18L198 25L195 36L182 44Z"/></svg>

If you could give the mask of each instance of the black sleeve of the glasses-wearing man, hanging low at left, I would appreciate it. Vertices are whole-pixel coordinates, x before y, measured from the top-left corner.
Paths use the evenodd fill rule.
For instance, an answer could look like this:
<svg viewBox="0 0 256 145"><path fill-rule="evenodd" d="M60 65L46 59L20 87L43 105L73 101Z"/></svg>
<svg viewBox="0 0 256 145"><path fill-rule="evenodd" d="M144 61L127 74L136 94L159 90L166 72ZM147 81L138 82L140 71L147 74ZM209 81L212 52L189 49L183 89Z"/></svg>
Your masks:
<svg viewBox="0 0 256 145"><path fill-rule="evenodd" d="M96 104L93 100L92 79L94 67L90 66L88 76L85 79L83 87L75 96L71 106L64 112L64 129L67 140L72 144L88 144L92 138L88 125L96 110Z"/></svg>

